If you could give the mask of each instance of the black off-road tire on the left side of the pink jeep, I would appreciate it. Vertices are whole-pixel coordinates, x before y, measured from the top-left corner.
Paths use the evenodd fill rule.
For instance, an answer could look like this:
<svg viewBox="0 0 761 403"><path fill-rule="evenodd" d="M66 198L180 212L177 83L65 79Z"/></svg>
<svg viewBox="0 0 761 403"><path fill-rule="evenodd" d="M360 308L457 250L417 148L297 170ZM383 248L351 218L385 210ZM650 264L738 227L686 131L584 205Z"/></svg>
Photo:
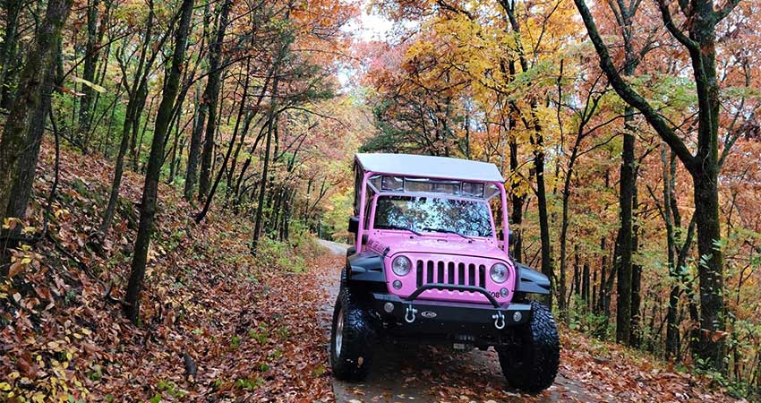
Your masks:
<svg viewBox="0 0 761 403"><path fill-rule="evenodd" d="M330 367L336 378L343 381L362 381L372 366L374 331L371 315L365 306L352 296L342 273L341 290L333 309L330 330ZM343 323L341 346L337 347L339 323Z"/></svg>

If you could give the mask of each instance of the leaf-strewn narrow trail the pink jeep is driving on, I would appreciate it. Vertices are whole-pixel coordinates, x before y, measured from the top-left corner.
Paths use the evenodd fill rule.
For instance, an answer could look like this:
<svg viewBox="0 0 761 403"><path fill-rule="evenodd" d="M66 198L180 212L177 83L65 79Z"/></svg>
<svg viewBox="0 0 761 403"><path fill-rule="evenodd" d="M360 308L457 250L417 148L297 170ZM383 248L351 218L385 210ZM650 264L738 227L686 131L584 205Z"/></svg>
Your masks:
<svg viewBox="0 0 761 403"><path fill-rule="evenodd" d="M331 253L343 255L346 245L320 241ZM329 318L338 296L341 266L324 270L323 284L329 301L323 306L322 325L330 331ZM333 392L338 402L356 401L615 401L615 397L600 396L584 389L583 385L563 376L539 395L526 395L512 390L502 377L497 354L493 349L483 352L455 353L442 347L403 344L383 344L376 349L370 377L362 383L340 382L333 379ZM465 399L464 399L465 398Z"/></svg>

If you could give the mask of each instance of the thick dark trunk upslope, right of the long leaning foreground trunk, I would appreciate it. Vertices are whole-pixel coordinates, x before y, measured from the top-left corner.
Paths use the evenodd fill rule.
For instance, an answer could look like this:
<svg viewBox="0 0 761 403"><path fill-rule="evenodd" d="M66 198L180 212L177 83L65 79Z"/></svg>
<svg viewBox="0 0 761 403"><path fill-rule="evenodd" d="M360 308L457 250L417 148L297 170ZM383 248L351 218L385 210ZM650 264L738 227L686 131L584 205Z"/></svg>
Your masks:
<svg viewBox="0 0 761 403"><path fill-rule="evenodd" d="M206 124L206 135L204 136L203 150L201 152L201 176L198 186L199 201L203 201L206 198L211 185L211 164L214 157L214 136L217 133L217 104L222 75L219 62L222 57L222 43L225 40L225 31L227 30L227 17L230 14L232 5L232 0L225 0L225 3L222 4L217 35L214 42L209 46L209 81L206 82L206 90L203 93L203 98L209 103L209 118Z"/></svg>

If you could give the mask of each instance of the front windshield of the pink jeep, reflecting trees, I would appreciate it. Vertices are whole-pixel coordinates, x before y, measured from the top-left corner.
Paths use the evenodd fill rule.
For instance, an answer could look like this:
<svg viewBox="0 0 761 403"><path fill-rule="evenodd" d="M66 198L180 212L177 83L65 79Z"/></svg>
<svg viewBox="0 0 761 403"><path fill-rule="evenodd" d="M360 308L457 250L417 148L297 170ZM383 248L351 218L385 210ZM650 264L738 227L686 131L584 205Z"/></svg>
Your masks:
<svg viewBox="0 0 761 403"><path fill-rule="evenodd" d="M487 237L492 236L490 213L483 201L381 195L373 227Z"/></svg>

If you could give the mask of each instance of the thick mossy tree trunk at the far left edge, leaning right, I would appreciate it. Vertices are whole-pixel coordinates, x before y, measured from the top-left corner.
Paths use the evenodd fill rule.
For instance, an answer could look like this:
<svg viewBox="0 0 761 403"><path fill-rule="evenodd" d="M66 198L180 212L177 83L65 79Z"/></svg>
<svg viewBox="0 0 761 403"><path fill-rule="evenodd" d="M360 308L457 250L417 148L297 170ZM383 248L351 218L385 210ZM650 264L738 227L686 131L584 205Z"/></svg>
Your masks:
<svg viewBox="0 0 761 403"><path fill-rule="evenodd" d="M69 18L73 0L49 0L45 20L38 30L38 37L30 49L27 62L19 78L19 86L13 97L5 120L3 138L0 140L0 222L7 213L18 214L26 210L34 169L37 164L24 163L29 152L38 153L42 140L47 102L52 91L52 77L56 62L56 47L61 27ZM48 100L46 100L46 98ZM40 119L42 121L40 121ZM35 122L37 120L37 122ZM29 150L29 149L34 150ZM37 157L33 157L36 162ZM21 179L21 182L18 182ZM14 182L18 185L14 185ZM15 193L14 193L15 192ZM21 204L23 204L21 206Z"/></svg>

